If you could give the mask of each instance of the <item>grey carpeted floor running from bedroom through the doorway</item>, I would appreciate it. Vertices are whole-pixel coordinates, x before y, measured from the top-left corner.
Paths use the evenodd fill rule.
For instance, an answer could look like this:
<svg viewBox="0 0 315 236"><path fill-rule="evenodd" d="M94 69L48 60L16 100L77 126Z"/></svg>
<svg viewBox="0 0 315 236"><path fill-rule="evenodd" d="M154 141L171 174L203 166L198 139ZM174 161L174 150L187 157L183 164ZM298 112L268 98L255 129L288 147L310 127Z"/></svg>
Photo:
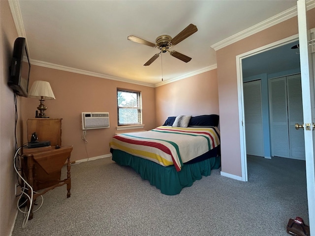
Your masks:
<svg viewBox="0 0 315 236"><path fill-rule="evenodd" d="M47 192L25 228L18 213L12 236L287 236L289 218L308 224L304 161L249 156L248 176L213 170L167 196L110 158L83 162L71 166L71 197Z"/></svg>

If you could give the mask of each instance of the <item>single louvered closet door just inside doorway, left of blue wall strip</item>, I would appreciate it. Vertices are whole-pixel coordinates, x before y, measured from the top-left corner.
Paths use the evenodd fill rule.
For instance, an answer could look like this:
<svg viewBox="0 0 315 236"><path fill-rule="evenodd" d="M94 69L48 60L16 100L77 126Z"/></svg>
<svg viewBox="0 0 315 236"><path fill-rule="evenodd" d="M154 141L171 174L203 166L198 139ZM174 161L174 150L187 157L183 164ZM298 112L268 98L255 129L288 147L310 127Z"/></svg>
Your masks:
<svg viewBox="0 0 315 236"><path fill-rule="evenodd" d="M243 84L246 153L254 156L264 156L261 81L251 81Z"/></svg>

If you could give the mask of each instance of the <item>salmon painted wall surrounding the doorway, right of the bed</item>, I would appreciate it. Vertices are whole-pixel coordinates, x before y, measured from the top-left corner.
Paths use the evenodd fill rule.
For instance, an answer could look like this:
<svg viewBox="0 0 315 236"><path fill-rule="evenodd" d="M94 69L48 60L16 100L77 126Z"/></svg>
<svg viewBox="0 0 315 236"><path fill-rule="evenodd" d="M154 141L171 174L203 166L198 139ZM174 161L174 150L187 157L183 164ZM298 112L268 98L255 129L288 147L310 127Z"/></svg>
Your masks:
<svg viewBox="0 0 315 236"><path fill-rule="evenodd" d="M314 28L315 8L309 10L309 16ZM236 56L297 33L297 17L293 17L217 51L222 172L242 176Z"/></svg>

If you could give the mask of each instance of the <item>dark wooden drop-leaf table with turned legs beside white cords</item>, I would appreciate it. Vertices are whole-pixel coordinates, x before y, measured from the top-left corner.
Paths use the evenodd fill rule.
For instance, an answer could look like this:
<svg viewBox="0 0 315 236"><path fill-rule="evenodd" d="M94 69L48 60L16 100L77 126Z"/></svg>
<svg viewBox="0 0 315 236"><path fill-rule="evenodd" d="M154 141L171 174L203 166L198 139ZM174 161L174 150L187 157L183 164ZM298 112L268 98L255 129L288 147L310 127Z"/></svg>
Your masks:
<svg viewBox="0 0 315 236"><path fill-rule="evenodd" d="M41 192L33 194L32 203L28 203L31 207L29 220L33 218L32 208L37 197L45 194L47 191L56 187L67 185L67 198L70 197L71 177L70 177L70 155L73 146L63 146L59 149L52 147L50 150L33 152L30 149L22 155L22 172L28 183L32 186L33 191ZM61 169L67 160L67 177L61 180ZM29 196L32 192L29 189Z"/></svg>

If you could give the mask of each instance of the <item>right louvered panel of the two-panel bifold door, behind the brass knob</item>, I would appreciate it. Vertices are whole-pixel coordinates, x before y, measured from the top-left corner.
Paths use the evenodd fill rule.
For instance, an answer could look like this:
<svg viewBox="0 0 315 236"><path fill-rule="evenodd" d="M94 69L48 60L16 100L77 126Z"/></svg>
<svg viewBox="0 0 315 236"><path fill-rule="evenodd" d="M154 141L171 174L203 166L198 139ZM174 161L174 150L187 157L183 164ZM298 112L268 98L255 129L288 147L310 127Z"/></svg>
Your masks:
<svg viewBox="0 0 315 236"><path fill-rule="evenodd" d="M301 75L287 76L286 83L290 157L305 160L304 131L295 129L295 123L303 123Z"/></svg>

